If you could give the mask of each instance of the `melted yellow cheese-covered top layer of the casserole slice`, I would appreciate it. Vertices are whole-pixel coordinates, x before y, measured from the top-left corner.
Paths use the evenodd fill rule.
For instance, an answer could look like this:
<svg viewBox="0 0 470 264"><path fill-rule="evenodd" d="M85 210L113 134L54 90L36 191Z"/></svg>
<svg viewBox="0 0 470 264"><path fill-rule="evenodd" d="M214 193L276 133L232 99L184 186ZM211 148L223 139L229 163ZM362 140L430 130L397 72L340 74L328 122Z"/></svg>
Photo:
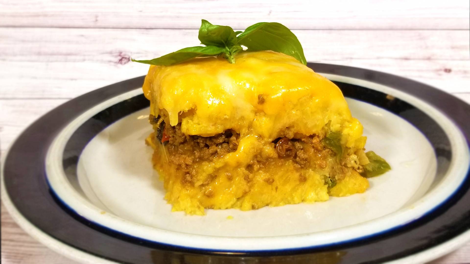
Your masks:
<svg viewBox="0 0 470 264"><path fill-rule="evenodd" d="M187 135L213 136L234 129L242 142L252 141L250 136L270 142L286 130L318 134L330 122L346 146L361 140L362 126L352 118L340 89L280 53L242 52L235 56L235 64L208 57L152 65L143 90L152 114L166 110L170 125L181 122Z"/></svg>

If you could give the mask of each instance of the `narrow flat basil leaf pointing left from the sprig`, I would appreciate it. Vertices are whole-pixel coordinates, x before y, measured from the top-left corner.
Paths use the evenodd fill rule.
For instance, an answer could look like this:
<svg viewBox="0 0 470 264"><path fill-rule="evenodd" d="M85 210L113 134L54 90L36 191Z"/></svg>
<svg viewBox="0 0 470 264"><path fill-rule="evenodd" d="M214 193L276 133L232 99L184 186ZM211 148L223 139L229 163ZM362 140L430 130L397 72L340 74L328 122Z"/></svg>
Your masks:
<svg viewBox="0 0 470 264"><path fill-rule="evenodd" d="M143 64L151 65L164 65L169 66L173 64L178 64L184 61L187 61L196 57L210 57L220 54L224 51L224 48L207 46L207 47L189 47L182 48L170 54L152 59L152 60L134 60L133 62L139 62Z"/></svg>

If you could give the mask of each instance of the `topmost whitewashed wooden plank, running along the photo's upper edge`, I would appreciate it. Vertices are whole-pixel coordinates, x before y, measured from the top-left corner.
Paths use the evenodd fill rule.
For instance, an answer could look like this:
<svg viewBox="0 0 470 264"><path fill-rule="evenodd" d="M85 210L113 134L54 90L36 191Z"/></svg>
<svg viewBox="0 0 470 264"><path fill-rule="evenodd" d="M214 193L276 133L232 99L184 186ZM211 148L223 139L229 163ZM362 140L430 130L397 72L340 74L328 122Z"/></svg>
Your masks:
<svg viewBox="0 0 470 264"><path fill-rule="evenodd" d="M204 18L238 29L262 21L291 29L469 29L469 2L1 0L0 17L0 26L22 27L195 29Z"/></svg>

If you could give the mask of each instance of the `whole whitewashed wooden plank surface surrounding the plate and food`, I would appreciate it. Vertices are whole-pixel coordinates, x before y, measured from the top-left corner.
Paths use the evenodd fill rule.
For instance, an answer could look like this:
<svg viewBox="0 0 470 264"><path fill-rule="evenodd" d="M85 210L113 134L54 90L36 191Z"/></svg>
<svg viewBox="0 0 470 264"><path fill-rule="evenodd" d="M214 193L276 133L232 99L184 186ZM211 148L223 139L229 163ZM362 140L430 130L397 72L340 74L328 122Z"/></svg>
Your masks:
<svg viewBox="0 0 470 264"><path fill-rule="evenodd" d="M468 0L0 0L1 154L32 121L102 86L144 75L129 58L195 46L204 18L292 29L307 60L390 72L470 103ZM469 113L470 116L470 113ZM1 208L1 261L72 263ZM434 264L470 263L470 244Z"/></svg>

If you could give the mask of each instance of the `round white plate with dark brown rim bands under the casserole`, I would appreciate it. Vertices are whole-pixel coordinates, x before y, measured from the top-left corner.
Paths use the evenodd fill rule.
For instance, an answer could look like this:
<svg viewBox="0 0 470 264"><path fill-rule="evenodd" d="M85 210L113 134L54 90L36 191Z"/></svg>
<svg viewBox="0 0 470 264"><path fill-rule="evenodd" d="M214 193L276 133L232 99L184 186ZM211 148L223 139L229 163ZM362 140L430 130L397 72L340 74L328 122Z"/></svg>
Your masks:
<svg viewBox="0 0 470 264"><path fill-rule="evenodd" d="M470 105L425 84L309 63L342 90L392 170L362 194L252 211L172 212L152 169L144 77L79 96L2 160L2 201L34 238L85 263L425 262L470 240Z"/></svg>

